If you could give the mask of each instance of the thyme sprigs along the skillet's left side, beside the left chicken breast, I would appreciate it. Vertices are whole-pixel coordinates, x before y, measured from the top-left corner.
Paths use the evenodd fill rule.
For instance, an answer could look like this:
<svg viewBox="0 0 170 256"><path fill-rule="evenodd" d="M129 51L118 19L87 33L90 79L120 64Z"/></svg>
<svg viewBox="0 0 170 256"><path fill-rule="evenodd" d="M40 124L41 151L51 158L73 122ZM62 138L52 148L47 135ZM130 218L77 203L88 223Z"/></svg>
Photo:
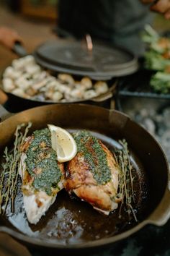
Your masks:
<svg viewBox="0 0 170 256"><path fill-rule="evenodd" d="M4 163L0 167L0 214L6 211L6 207L11 200L12 213L14 213L14 199L17 195L17 180L19 176L19 162L21 158L20 146L27 137L27 133L32 126L29 122L19 124L15 130L14 148L9 151L6 147L4 150ZM22 132L23 127L24 133Z"/></svg>

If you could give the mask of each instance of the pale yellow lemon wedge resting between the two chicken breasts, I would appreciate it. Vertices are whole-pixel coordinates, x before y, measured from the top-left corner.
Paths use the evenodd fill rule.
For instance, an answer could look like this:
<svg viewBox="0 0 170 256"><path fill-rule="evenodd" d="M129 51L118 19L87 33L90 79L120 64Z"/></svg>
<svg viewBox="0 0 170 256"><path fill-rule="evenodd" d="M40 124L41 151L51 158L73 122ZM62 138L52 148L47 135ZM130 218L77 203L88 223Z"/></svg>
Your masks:
<svg viewBox="0 0 170 256"><path fill-rule="evenodd" d="M57 153L58 162L70 161L77 153L76 141L72 135L61 127L48 124L51 133L52 148Z"/></svg>

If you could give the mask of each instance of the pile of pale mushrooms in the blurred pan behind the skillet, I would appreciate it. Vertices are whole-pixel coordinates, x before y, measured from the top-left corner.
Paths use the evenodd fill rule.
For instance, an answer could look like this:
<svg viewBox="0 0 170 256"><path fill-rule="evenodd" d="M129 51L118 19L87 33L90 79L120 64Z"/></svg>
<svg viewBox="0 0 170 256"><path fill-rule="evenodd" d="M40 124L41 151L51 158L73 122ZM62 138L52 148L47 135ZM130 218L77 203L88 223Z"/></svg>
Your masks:
<svg viewBox="0 0 170 256"><path fill-rule="evenodd" d="M109 89L106 82L83 77L76 81L70 74L54 77L36 64L33 56L12 61L3 74L2 85L6 93L38 101L69 102L94 98Z"/></svg>

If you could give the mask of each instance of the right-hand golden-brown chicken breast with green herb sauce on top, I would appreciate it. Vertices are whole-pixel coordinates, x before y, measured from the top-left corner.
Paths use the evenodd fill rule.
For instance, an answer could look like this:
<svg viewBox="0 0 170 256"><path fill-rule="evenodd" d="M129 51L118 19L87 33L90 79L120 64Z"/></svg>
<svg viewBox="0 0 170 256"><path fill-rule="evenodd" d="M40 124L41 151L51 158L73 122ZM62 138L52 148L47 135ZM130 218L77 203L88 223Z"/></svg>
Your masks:
<svg viewBox="0 0 170 256"><path fill-rule="evenodd" d="M114 155L87 131L73 134L78 147L66 167L65 187L108 215L117 208L119 168Z"/></svg>

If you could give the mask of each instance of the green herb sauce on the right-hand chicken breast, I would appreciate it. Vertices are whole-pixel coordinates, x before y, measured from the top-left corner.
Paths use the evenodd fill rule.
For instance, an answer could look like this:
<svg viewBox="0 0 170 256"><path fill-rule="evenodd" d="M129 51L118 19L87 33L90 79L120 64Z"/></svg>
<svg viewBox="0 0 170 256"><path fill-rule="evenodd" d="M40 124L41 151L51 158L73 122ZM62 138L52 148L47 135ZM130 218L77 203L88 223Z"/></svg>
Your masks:
<svg viewBox="0 0 170 256"><path fill-rule="evenodd" d="M96 137L87 131L73 134L78 153L84 155L84 161L89 163L89 169L98 184L106 184L111 179L111 171L107 164L107 154Z"/></svg>

